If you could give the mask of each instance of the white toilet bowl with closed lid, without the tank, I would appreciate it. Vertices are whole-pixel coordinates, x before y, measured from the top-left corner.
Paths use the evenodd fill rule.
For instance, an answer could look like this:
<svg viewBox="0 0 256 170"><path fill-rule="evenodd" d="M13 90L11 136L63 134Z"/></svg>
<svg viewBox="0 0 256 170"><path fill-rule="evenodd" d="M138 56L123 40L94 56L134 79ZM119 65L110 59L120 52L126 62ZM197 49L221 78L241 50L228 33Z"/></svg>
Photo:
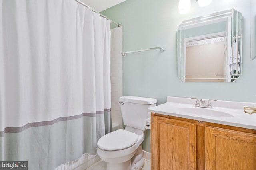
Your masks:
<svg viewBox="0 0 256 170"><path fill-rule="evenodd" d="M131 159L135 154L138 158L141 155L142 158L141 144L145 137L144 131L132 129L132 127L126 127L125 130L119 129L117 131L108 133L107 135L105 135L107 136L106 138L100 138L97 149L97 154L100 156L100 158L108 163L107 170L132 170L132 167L138 169L138 165L135 167L135 164L132 164ZM126 137L123 138L125 135ZM122 139L120 140L120 138ZM111 147L108 147L109 143L114 144L116 141L121 142L122 140L124 140L126 144L129 144L122 145L119 143L119 146L113 147L114 145L112 145ZM143 164L144 162L142 163L142 166Z"/></svg>

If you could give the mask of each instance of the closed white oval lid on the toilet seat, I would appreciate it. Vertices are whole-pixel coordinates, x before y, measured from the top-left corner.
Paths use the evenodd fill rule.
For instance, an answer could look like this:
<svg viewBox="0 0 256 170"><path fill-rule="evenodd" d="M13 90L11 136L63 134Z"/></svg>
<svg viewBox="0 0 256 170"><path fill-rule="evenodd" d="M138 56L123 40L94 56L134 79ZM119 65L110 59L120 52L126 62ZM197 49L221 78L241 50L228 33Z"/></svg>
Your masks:
<svg viewBox="0 0 256 170"><path fill-rule="evenodd" d="M122 150L134 145L137 140L137 134L118 129L101 137L97 145L102 150Z"/></svg>

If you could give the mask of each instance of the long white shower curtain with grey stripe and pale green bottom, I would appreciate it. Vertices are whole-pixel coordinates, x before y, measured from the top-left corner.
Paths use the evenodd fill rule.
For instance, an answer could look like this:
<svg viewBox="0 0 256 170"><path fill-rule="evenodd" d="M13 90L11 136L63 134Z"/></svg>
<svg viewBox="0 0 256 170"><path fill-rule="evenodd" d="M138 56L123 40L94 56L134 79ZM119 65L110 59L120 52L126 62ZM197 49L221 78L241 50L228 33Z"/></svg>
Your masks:
<svg viewBox="0 0 256 170"><path fill-rule="evenodd" d="M0 160L53 170L110 132L110 21L74 0L0 0Z"/></svg>

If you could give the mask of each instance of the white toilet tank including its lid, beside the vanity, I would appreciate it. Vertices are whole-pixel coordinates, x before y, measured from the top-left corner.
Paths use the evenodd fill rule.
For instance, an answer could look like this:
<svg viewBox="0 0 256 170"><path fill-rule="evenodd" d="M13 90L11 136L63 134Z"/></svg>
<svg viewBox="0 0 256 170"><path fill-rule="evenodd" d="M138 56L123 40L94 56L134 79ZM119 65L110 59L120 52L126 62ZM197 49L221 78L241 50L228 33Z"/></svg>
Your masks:
<svg viewBox="0 0 256 170"><path fill-rule="evenodd" d="M143 121L150 117L148 108L156 106L156 99L138 96L123 96L119 98L122 118L125 126L146 130Z"/></svg>

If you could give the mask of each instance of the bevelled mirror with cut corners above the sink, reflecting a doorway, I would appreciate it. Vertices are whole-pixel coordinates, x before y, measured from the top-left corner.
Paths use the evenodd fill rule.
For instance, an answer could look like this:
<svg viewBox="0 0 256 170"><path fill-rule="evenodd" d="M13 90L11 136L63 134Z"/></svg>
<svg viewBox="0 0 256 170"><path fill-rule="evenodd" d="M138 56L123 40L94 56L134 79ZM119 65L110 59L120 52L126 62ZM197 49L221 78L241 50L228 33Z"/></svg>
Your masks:
<svg viewBox="0 0 256 170"><path fill-rule="evenodd" d="M242 13L234 9L183 21L177 43L184 82L233 82L242 75Z"/></svg>

